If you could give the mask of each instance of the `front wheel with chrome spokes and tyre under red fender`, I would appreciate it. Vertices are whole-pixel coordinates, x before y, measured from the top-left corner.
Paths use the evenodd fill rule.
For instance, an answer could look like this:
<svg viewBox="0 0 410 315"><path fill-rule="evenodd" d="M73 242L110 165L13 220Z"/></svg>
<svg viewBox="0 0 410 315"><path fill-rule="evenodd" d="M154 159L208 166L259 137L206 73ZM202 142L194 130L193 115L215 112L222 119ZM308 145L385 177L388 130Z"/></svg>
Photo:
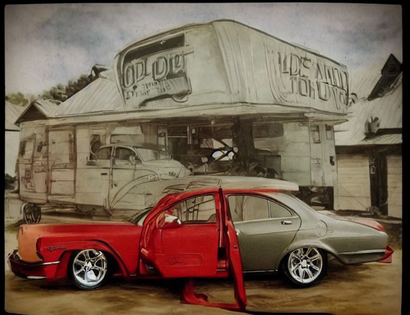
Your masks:
<svg viewBox="0 0 410 315"><path fill-rule="evenodd" d="M103 252L93 249L75 252L68 264L68 274L71 281L80 289L96 289L107 278L107 258Z"/></svg>

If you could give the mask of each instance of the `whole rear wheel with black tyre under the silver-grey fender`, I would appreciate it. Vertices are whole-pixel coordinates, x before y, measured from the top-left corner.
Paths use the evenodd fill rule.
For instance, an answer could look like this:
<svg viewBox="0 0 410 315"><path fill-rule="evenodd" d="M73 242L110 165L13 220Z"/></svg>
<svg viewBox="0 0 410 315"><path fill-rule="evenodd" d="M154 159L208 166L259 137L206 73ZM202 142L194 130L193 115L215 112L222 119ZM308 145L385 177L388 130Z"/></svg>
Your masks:
<svg viewBox="0 0 410 315"><path fill-rule="evenodd" d="M315 247L298 248L285 256L282 269L294 285L307 287L316 284L326 274L327 253Z"/></svg>

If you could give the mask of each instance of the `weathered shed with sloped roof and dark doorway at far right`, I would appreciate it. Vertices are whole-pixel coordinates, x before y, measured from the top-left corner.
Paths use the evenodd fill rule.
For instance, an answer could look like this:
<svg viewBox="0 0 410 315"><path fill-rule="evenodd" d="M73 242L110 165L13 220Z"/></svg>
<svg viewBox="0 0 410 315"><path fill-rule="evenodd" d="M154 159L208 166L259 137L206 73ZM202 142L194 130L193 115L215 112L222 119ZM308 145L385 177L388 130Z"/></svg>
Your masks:
<svg viewBox="0 0 410 315"><path fill-rule="evenodd" d="M390 55L378 73L353 77L349 121L335 128L335 209L402 218L402 67Z"/></svg>

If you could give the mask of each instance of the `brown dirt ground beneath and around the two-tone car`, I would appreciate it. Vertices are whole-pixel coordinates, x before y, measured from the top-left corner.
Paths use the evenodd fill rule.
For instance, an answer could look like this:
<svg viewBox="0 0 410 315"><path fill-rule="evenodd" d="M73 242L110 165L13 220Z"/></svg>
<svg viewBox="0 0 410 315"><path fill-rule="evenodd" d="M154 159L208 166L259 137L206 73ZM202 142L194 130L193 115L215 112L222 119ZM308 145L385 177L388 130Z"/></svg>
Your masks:
<svg viewBox="0 0 410 315"><path fill-rule="evenodd" d="M43 216L42 222L82 221ZM16 226L5 228L6 253L17 246ZM327 277L318 285L296 289L280 274L246 275L247 310L265 312L324 312L335 315L401 314L402 250L395 250L392 264L344 266L329 259ZM330 257L329 257L330 258ZM14 276L5 271L5 310L32 315L93 314L237 314L222 309L181 304L179 281L112 280L95 291L80 291L69 283L48 284ZM196 292L210 302L233 303L233 283L201 280Z"/></svg>

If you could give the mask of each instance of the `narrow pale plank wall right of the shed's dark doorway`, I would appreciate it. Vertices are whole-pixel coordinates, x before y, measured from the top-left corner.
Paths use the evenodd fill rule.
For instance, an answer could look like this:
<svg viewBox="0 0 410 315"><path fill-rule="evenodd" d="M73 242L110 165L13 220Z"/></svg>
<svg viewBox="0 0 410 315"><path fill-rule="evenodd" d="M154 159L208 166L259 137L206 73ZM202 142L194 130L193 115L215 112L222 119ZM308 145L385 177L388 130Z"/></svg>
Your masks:
<svg viewBox="0 0 410 315"><path fill-rule="evenodd" d="M387 157L388 213L391 217L402 218L402 157Z"/></svg>

